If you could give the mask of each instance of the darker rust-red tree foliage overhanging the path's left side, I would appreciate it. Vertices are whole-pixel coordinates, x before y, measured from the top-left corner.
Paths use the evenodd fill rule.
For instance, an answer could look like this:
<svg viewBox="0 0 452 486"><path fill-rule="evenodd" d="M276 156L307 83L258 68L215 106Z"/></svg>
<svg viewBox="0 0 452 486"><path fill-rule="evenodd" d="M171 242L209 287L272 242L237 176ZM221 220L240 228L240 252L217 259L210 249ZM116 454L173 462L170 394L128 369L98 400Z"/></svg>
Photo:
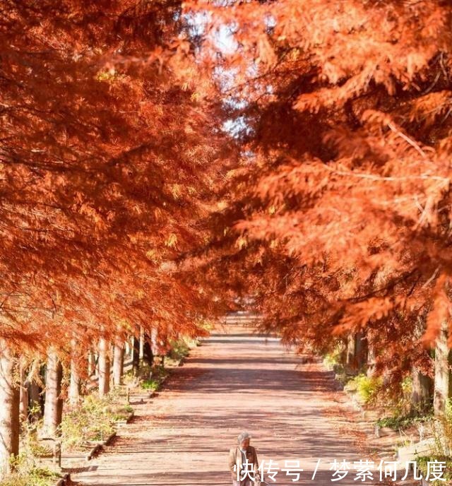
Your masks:
<svg viewBox="0 0 452 486"><path fill-rule="evenodd" d="M45 348L138 324L201 333L208 290L165 263L203 241L219 157L179 4L1 12L1 335Z"/></svg>

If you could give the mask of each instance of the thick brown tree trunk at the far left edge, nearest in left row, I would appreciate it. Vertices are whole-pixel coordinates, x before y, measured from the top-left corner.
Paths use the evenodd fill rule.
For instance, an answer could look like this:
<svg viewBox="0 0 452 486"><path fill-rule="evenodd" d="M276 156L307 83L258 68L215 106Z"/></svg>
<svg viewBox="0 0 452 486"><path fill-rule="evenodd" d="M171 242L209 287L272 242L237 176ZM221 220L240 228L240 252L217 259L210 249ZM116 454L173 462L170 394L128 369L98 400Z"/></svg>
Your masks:
<svg viewBox="0 0 452 486"><path fill-rule="evenodd" d="M7 475L9 460L19 454L19 401L17 359L8 343L0 340L0 475Z"/></svg>

